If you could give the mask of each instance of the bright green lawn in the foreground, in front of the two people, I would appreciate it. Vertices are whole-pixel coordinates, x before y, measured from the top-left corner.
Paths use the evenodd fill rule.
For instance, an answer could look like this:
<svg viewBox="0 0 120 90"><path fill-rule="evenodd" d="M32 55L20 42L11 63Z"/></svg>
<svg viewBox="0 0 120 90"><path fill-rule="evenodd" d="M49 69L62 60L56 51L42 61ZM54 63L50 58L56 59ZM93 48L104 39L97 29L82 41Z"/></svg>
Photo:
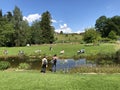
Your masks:
<svg viewBox="0 0 120 90"><path fill-rule="evenodd" d="M120 90L119 74L0 71L1 90Z"/></svg>

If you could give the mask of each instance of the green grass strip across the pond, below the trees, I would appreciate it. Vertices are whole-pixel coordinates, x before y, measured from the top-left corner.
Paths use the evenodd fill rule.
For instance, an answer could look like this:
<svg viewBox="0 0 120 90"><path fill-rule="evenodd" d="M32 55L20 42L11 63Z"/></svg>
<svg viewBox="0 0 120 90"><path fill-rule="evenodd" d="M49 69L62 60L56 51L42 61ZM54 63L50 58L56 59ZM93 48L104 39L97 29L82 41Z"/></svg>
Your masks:
<svg viewBox="0 0 120 90"><path fill-rule="evenodd" d="M85 46L84 44L53 44L53 50L49 50L50 45L36 45L30 47L1 47L0 55L4 55L3 51L8 50L8 55L18 55L19 50L23 50L26 55L35 54L35 50L42 50L41 54L46 54L48 56L52 56L57 54L58 56L65 57L73 57L77 55L77 51L80 49L85 49L85 53L83 55L96 55L97 53L115 53L116 52L116 44L100 44L99 46ZM118 46L117 46L118 47ZM65 50L63 55L60 55L61 50Z"/></svg>

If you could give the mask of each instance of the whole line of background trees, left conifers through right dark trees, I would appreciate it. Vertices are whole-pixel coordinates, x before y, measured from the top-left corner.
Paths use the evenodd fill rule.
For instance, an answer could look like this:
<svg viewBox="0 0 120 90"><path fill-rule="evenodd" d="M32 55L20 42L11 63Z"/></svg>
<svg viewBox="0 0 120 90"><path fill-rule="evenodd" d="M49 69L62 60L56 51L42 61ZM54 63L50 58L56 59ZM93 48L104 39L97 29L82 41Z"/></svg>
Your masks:
<svg viewBox="0 0 120 90"><path fill-rule="evenodd" d="M13 12L8 11L4 15L0 10L0 46L50 44L57 40L54 33L55 28L52 26L52 17L49 11L44 12L39 20L29 25L27 20L23 20L22 12L17 6ZM60 34L63 32L61 31ZM94 29L89 28L81 35L84 37L83 41L87 43L98 41L98 36L116 39L116 36L120 36L120 16L112 18L101 16L96 20ZM75 37L75 40L78 38Z"/></svg>

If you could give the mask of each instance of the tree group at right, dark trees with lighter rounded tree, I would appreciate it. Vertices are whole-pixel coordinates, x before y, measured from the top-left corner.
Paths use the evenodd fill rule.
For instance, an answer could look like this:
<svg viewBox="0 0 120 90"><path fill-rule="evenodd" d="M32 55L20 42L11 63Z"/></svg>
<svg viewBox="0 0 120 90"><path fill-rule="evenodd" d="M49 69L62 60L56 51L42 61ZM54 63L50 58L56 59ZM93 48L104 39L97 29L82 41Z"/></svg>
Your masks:
<svg viewBox="0 0 120 90"><path fill-rule="evenodd" d="M107 18L101 16L96 20L95 27L85 30L83 40L87 43L111 41L120 38L120 16Z"/></svg>

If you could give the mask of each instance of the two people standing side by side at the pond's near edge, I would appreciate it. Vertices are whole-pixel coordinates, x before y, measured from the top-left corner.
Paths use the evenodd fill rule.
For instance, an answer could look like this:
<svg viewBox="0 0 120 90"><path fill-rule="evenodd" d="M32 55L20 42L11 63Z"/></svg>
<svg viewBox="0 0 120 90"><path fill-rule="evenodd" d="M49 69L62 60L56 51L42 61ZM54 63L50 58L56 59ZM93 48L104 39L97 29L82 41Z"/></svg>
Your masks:
<svg viewBox="0 0 120 90"><path fill-rule="evenodd" d="M55 54L51 60L51 71L52 72L56 72L56 63L57 63L57 55ZM42 59L42 67L41 67L41 72L42 73L46 73L46 68L48 67L48 61L47 58L44 56L44 58Z"/></svg>

